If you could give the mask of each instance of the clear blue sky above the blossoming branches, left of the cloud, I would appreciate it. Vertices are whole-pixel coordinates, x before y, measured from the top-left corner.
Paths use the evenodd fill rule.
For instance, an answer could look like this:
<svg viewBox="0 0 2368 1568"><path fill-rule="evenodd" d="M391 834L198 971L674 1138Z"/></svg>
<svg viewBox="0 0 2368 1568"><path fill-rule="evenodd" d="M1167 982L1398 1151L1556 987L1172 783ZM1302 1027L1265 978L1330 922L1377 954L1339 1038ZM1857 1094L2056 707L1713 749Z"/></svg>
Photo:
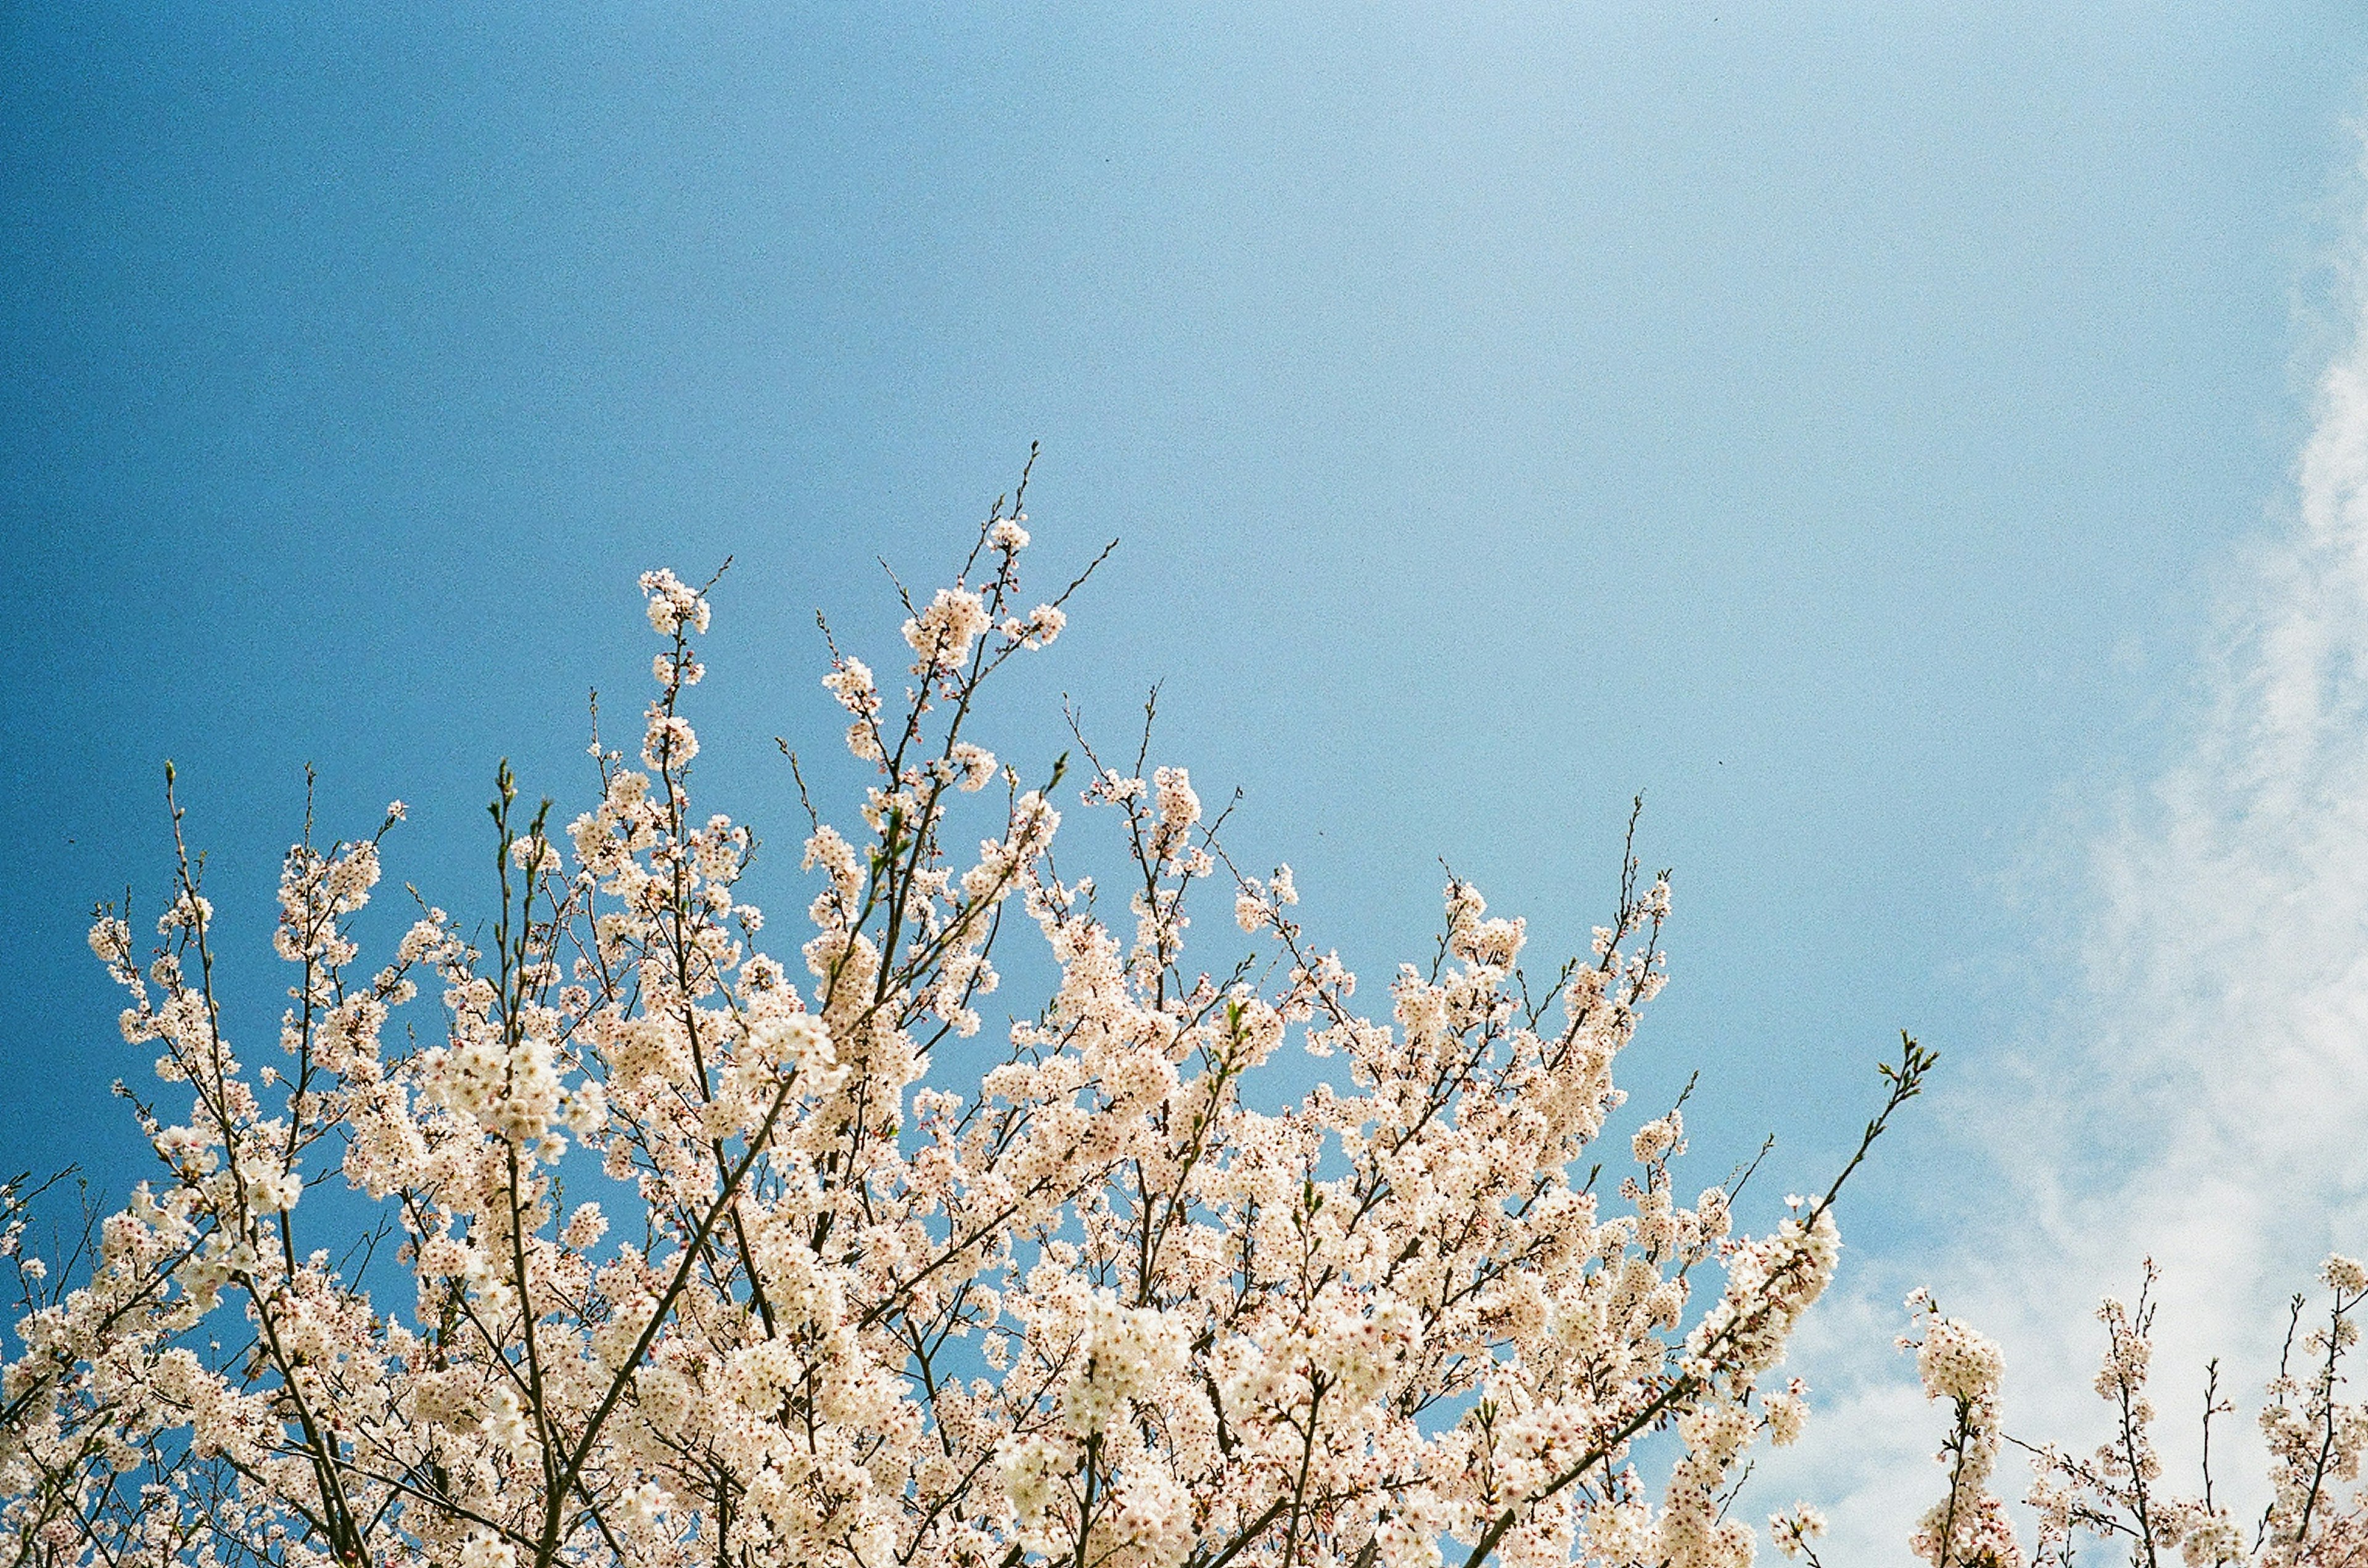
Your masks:
<svg viewBox="0 0 2368 1568"><path fill-rule="evenodd" d="M1629 1082L1807 1184L1913 1028L1987 1085L1868 1187L1920 1267L1973 1101L2074 1097L2079 824L2245 689L2368 12L9 5L0 78L0 1165L123 1170L166 756L263 1035L303 765L469 907L495 758L571 808L632 576L729 552L703 789L786 850L812 611L893 637L1042 441L1042 552L1120 550L1006 753L1165 682L1376 976L1440 857L1584 940L1646 791Z"/></svg>

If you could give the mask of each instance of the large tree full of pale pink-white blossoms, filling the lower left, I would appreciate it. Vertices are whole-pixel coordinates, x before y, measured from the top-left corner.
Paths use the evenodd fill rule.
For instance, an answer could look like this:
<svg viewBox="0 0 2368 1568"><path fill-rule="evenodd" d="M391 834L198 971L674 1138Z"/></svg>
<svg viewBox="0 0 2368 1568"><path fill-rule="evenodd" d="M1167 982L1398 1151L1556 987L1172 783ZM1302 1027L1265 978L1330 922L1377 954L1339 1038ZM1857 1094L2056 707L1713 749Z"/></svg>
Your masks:
<svg viewBox="0 0 2368 1568"><path fill-rule="evenodd" d="M1679 1111L1610 1189L1579 1175L1662 985L1667 879L1627 855L1594 952L1534 990L1523 921L1449 881L1376 1018L1288 867L1241 874L1148 732L1127 765L1080 734L1073 798L1125 846L1113 928L1054 862L1063 767L1030 784L971 734L1063 628L1068 592L1021 609L1025 547L999 502L907 599L900 701L831 647L876 782L848 822L807 805L800 978L755 950L748 829L691 810L708 592L665 571L637 758L594 739L564 829L502 770L485 924L424 907L365 966L403 808L289 850L270 1066L225 1037L230 938L173 803L159 945L128 910L90 933L159 1052L161 1170L54 1277L26 1194L0 1210L9 1561L1748 1563L1726 1504L1800 1431L1771 1369L1842 1182L1738 1236L1740 1182L1677 1203ZM1201 883L1253 955L1184 962ZM987 1052L1014 914L1058 978ZM1293 1042L1343 1080L1253 1111ZM1845 1177L1930 1061L1885 1068ZM353 1196L305 1201L332 1180Z"/></svg>

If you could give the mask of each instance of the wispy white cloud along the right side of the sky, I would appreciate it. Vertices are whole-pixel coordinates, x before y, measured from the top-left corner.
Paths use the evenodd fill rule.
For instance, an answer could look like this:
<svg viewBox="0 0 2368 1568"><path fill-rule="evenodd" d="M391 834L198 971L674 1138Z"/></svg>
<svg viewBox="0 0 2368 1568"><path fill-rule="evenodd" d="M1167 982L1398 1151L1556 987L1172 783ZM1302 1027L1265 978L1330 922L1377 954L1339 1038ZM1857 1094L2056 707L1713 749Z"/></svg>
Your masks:
<svg viewBox="0 0 2368 1568"><path fill-rule="evenodd" d="M1828 1504L1828 1561L1904 1561L1939 1487L1939 1414L1887 1355L1909 1272L2006 1343L2010 1431L2096 1442L2091 1312L2153 1255L2183 1483L2205 1362L2254 1393L2285 1298L2368 1251L2368 225L2351 251L2285 521L2231 564L2174 760L2048 838L2084 981L1956 1104L1991 1196L1944 1253L1866 1267L1800 1345L1826 1414L1759 1490Z"/></svg>

